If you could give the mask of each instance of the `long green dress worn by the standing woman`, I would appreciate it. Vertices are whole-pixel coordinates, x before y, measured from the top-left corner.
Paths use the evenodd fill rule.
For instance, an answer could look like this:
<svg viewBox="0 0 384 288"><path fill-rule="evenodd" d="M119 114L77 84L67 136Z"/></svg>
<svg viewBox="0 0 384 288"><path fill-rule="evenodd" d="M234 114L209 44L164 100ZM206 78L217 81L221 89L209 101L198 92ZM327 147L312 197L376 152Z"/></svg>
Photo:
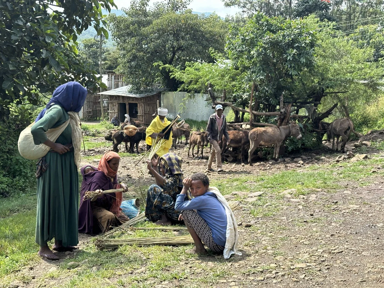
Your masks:
<svg viewBox="0 0 384 288"><path fill-rule="evenodd" d="M63 124L69 118L61 106L54 105L31 128L36 145L48 138L45 132ZM72 143L71 126L65 128L56 143ZM74 152L59 154L48 152L45 156L48 169L37 179L36 238L39 245L55 238L63 246L78 244L79 175L74 162Z"/></svg>

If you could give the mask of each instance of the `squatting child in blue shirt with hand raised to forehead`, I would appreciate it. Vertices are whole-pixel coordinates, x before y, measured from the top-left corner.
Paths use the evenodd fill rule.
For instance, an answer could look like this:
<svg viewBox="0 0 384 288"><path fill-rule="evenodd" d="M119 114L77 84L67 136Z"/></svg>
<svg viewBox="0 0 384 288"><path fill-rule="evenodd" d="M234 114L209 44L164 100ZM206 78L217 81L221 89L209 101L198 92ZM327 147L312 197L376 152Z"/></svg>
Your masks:
<svg viewBox="0 0 384 288"><path fill-rule="evenodd" d="M189 253L207 254L202 242L214 252L222 253L227 240L227 214L216 194L209 191L207 175L195 173L185 178L183 185L176 198L175 210L182 211L179 220L184 220L195 242L195 248ZM195 198L184 201L189 189Z"/></svg>

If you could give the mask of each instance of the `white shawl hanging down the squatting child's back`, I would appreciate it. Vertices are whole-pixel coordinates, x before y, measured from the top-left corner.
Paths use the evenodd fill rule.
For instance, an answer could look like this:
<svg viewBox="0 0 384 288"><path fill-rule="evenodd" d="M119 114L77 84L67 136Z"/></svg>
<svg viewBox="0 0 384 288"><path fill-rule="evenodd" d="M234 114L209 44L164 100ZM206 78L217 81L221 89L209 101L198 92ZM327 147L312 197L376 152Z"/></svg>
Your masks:
<svg viewBox="0 0 384 288"><path fill-rule="evenodd" d="M237 249L239 235L237 232L235 215L233 215L232 210L228 206L227 200L225 200L223 195L221 195L220 191L216 187L208 187L208 191L216 195L217 199L221 202L221 204L223 204L225 213L227 214L227 239L225 240L225 248L223 251L224 258L228 259L232 254L241 256L242 253Z"/></svg>

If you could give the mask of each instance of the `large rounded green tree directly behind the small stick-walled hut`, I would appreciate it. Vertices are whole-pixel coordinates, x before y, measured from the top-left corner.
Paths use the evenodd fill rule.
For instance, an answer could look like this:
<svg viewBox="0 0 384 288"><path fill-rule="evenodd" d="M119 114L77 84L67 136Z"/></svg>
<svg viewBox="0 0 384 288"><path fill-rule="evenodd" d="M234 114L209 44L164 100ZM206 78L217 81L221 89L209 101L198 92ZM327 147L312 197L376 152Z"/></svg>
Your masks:
<svg viewBox="0 0 384 288"><path fill-rule="evenodd" d="M135 90L157 81L176 90L180 82L162 65L182 70L189 61L213 62L210 47L223 51L227 25L217 15L192 14L185 10L187 3L169 1L147 8L147 0L132 1L124 10L126 16L109 17L112 36L121 51L118 71Z"/></svg>

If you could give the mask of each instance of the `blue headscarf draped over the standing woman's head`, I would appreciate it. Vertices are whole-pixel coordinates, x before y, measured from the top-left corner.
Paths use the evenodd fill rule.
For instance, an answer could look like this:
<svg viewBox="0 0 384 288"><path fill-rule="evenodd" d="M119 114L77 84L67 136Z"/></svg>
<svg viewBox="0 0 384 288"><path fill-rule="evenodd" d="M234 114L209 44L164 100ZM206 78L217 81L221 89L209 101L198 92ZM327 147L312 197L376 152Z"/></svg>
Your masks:
<svg viewBox="0 0 384 288"><path fill-rule="evenodd" d="M46 105L46 108L44 108L39 116L37 116L35 122L39 121L44 116L46 109L49 109L55 104L63 107L66 112L74 111L79 113L81 107L84 105L87 93L87 89L75 81L60 85L56 88L55 92L53 92L51 100Z"/></svg>

